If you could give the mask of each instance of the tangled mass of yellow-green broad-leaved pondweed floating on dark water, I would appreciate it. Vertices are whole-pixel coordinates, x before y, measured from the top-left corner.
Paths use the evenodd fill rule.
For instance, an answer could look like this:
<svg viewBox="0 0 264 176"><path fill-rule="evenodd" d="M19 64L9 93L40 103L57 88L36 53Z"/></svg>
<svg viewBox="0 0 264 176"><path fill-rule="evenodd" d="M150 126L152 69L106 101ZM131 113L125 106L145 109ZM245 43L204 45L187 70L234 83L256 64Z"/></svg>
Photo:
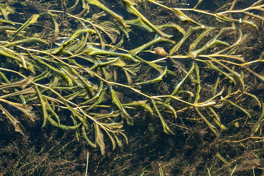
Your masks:
<svg viewBox="0 0 264 176"><path fill-rule="evenodd" d="M234 141L221 141L223 133L247 126L251 130L242 140L263 140L263 94L254 94L254 85L263 90L263 47L254 57L244 53L248 37L263 30L262 0L238 10L233 1L215 13L198 9L202 1L194 8L153 0L111 2L126 9L128 18L111 10L110 2L67 3L1 3L0 109L15 131L26 135L25 117L41 120L43 128L73 130L75 139L100 148L102 155L106 137L112 150L116 143L123 148L130 126L139 121L151 126L149 135L153 126L173 136L199 124L220 145ZM180 23L155 25L140 4L172 13ZM190 12L211 20L194 19ZM219 152L215 157L230 164Z"/></svg>

